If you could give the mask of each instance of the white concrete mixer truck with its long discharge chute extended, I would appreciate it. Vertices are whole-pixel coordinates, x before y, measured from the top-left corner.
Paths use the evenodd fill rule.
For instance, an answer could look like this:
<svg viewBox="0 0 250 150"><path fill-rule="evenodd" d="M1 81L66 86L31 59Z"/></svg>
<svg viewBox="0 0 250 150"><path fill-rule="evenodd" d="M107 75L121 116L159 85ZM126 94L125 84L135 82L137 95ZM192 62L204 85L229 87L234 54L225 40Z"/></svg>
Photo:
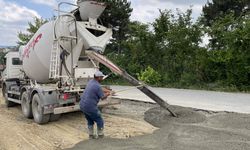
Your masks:
<svg viewBox="0 0 250 150"><path fill-rule="evenodd" d="M67 13L62 5L76 8ZM90 0L60 3L54 20L19 52L6 55L2 93L7 107L21 104L23 115L39 124L58 120L62 113L79 110L80 95L102 63L170 111L146 85L102 55L112 37L111 27L98 24L105 7Z"/></svg>

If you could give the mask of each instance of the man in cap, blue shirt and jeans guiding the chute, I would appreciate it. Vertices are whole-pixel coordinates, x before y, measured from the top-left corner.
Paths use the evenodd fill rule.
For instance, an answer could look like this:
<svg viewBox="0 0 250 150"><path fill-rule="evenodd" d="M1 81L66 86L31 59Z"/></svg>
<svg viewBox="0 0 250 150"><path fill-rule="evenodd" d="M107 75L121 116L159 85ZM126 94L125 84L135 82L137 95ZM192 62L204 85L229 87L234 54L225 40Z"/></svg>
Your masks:
<svg viewBox="0 0 250 150"><path fill-rule="evenodd" d="M80 109L88 122L89 138L103 138L104 121L101 112L98 109L100 99L104 100L112 94L111 90L103 89L100 82L103 80L104 74L97 71L94 79L90 80L81 96ZM94 135L94 123L97 124L97 136Z"/></svg>

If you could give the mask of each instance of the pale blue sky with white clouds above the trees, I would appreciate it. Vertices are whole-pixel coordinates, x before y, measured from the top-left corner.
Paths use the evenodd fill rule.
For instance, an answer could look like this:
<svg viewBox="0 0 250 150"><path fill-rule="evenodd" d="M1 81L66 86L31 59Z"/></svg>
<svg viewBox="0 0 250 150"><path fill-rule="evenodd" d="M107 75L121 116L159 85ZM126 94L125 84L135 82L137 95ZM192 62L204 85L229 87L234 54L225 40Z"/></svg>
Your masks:
<svg viewBox="0 0 250 150"><path fill-rule="evenodd" d="M16 45L17 34L25 31L28 22L34 17L51 18L59 2L75 3L75 0L0 0L0 45ZM159 9L176 8L186 11L192 7L194 19L197 19L202 6L208 0L129 0L133 8L131 20L143 23L153 22L159 16Z"/></svg>

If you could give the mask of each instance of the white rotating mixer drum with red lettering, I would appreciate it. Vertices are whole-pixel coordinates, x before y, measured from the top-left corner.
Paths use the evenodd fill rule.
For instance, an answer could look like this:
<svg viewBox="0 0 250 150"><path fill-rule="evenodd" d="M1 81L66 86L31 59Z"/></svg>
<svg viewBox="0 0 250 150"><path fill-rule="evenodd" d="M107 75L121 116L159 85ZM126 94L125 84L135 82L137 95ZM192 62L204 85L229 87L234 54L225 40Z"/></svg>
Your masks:
<svg viewBox="0 0 250 150"><path fill-rule="evenodd" d="M67 28L64 23L58 21L56 27L59 29L56 31L58 37L62 35L67 36L69 34L69 32L65 30ZM64 28L63 31L60 30L62 28ZM20 58L23 60L23 69L26 75L39 83L50 82L50 56L55 36L53 29L54 21L44 24L20 52ZM70 47L69 43L60 44L64 48Z"/></svg>

